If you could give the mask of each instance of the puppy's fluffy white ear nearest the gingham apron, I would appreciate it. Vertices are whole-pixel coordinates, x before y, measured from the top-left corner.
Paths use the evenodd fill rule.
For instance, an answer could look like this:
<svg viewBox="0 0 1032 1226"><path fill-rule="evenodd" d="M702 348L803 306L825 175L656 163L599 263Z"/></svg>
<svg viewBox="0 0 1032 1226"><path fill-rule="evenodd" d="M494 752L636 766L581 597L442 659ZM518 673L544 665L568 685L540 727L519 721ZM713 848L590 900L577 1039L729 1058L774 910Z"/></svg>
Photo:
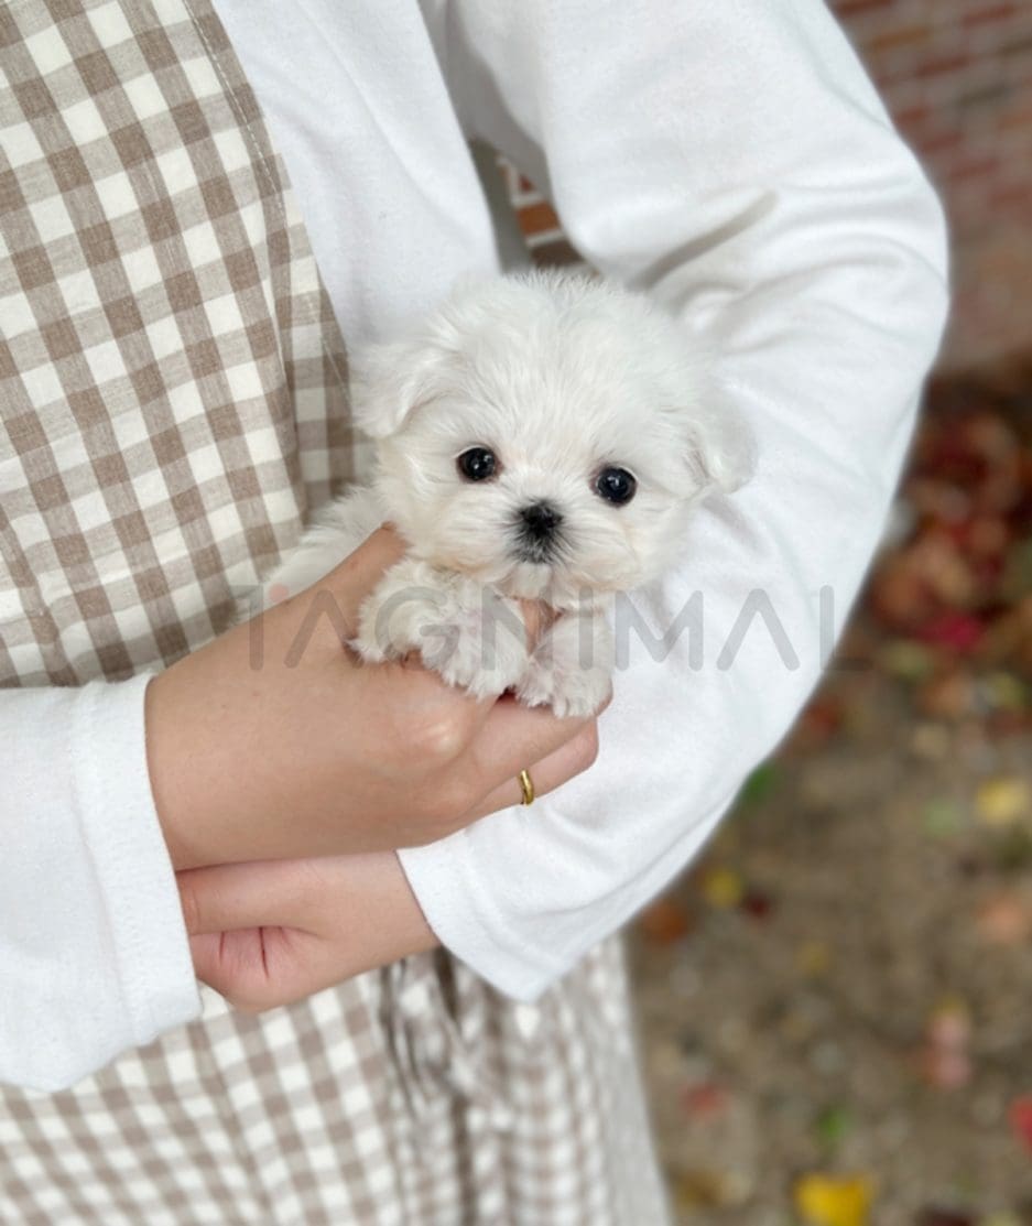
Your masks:
<svg viewBox="0 0 1032 1226"><path fill-rule="evenodd" d="M370 438L395 434L414 408L440 390L453 365L455 354L429 336L355 349L348 354L352 419Z"/></svg>

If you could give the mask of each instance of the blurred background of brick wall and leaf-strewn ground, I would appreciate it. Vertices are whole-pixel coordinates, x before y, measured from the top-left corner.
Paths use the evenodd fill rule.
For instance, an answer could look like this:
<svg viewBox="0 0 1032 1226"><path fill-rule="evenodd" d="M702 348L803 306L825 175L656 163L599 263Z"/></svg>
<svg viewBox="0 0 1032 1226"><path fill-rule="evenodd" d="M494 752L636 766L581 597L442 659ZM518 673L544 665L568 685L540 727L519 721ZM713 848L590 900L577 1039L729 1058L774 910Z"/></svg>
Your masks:
<svg viewBox="0 0 1032 1226"><path fill-rule="evenodd" d="M831 7L954 313L837 661L634 932L653 1119L684 1222L1032 1226L1032 0Z"/></svg>

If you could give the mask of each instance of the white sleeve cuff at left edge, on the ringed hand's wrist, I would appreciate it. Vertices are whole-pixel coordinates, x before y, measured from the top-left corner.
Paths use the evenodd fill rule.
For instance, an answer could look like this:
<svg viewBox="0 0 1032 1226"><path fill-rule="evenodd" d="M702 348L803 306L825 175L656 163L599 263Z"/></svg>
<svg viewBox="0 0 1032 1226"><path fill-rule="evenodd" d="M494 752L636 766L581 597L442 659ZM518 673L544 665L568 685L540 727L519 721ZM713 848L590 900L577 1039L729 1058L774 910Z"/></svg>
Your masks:
<svg viewBox="0 0 1032 1226"><path fill-rule="evenodd" d="M0 691L0 1083L66 1089L200 1014L148 680Z"/></svg>

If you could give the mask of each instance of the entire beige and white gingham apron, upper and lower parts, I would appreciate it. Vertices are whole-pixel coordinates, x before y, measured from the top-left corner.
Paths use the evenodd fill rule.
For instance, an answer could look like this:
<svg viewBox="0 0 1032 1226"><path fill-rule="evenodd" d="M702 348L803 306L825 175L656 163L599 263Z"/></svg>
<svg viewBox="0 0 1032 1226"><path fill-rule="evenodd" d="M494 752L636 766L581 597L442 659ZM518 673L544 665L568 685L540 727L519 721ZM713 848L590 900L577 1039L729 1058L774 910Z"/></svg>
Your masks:
<svg viewBox="0 0 1032 1226"><path fill-rule="evenodd" d="M0 7L0 684L170 662L360 467L344 346L206 0ZM619 946L438 953L0 1087L4 1226L666 1220Z"/></svg>

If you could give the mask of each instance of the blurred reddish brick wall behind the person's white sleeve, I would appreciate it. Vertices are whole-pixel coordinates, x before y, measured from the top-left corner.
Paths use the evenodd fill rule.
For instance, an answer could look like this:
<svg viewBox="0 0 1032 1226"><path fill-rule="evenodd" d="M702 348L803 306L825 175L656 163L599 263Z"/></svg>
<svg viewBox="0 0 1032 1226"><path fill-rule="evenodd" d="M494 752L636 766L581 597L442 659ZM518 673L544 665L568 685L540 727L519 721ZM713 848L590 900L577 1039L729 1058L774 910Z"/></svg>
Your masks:
<svg viewBox="0 0 1032 1226"><path fill-rule="evenodd" d="M1032 353L1032 0L831 0L950 219L944 369ZM506 168L536 259L567 260L558 218Z"/></svg>

